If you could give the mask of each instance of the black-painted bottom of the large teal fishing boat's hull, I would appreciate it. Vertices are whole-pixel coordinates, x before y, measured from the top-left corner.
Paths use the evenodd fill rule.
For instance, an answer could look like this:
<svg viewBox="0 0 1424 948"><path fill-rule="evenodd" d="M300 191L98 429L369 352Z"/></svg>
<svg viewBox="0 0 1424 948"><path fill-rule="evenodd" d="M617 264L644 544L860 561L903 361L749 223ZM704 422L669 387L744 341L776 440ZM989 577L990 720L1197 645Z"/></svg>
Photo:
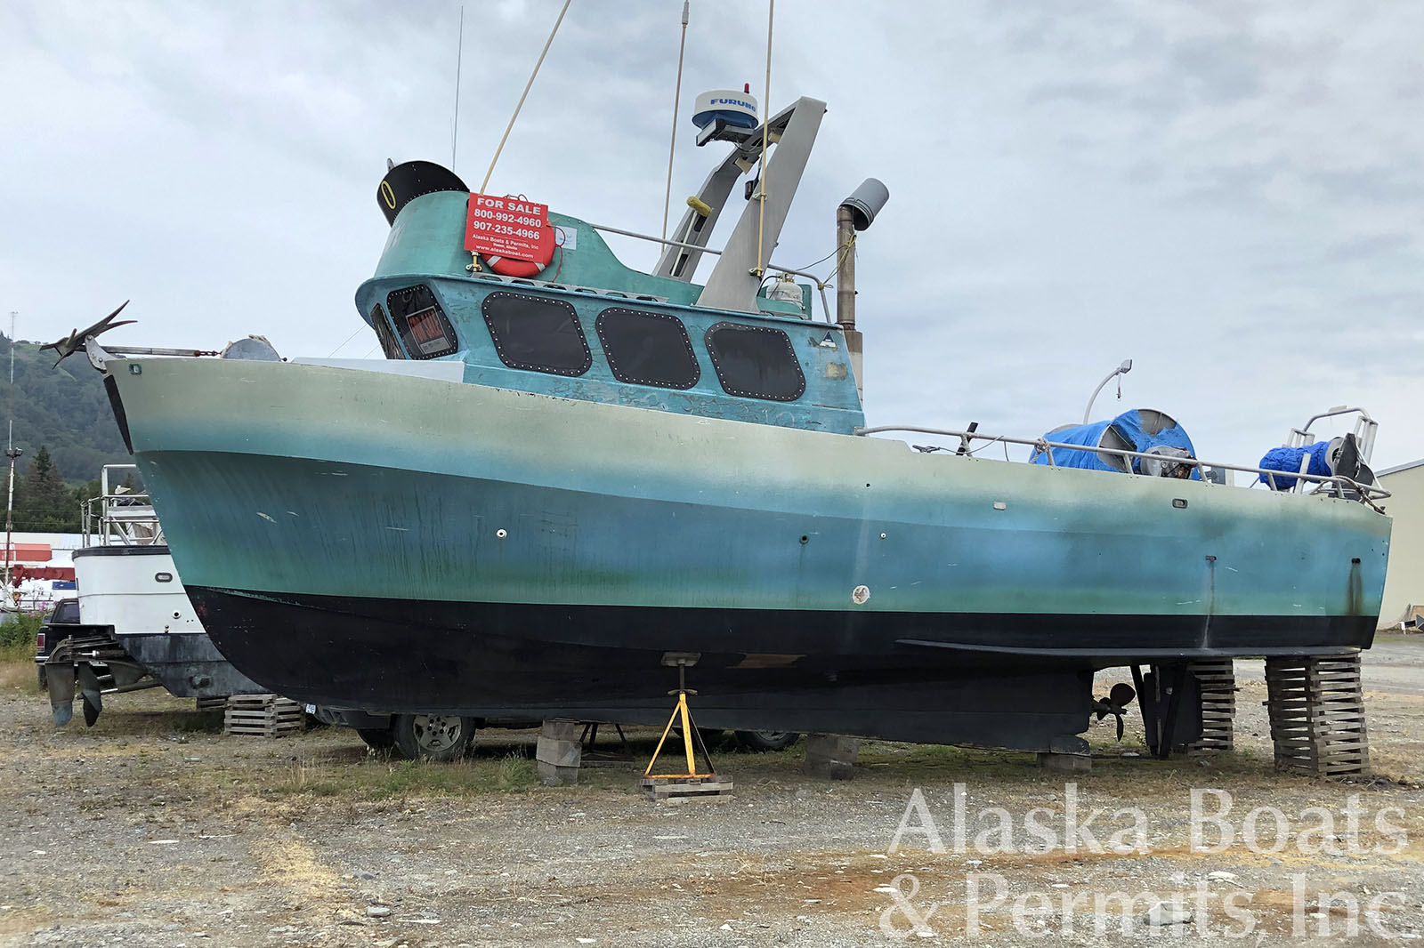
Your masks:
<svg viewBox="0 0 1424 948"><path fill-rule="evenodd" d="M312 705L698 723L1081 750L1092 672L1134 660L1367 648L1361 616L941 615L409 602L188 586L218 649ZM916 642L914 645L907 643Z"/></svg>

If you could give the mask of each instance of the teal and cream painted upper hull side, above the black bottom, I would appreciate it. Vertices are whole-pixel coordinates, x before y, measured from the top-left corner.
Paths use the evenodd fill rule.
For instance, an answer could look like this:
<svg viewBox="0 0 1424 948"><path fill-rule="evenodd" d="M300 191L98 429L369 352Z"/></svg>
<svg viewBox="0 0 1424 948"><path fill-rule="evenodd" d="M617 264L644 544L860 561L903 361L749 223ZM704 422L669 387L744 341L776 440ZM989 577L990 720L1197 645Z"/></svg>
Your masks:
<svg viewBox="0 0 1424 948"><path fill-rule="evenodd" d="M142 366L120 390L194 585L1205 621L1374 618L1384 584L1388 518L1327 497L339 369Z"/></svg>

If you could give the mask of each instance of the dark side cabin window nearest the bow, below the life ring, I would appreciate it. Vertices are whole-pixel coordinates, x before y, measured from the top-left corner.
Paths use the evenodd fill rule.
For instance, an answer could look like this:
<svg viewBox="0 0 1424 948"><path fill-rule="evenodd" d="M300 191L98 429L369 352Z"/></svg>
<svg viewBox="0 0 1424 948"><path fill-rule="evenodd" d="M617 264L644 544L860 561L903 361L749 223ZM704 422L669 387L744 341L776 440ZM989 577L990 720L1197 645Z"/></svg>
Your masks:
<svg viewBox="0 0 1424 948"><path fill-rule="evenodd" d="M494 350L510 369L581 376L594 364L570 303L523 293L490 293L480 307Z"/></svg>

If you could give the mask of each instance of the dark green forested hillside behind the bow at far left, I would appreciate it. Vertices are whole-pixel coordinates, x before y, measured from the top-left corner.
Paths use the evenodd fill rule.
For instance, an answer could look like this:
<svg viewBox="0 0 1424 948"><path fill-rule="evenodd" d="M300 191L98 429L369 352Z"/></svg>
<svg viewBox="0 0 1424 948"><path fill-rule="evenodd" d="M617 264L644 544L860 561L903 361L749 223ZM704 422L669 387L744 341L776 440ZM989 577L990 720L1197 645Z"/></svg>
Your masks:
<svg viewBox="0 0 1424 948"><path fill-rule="evenodd" d="M10 340L0 335L0 426L9 409ZM4 436L0 427L0 441ZM100 467L132 461L110 411L104 377L84 353L56 369L54 352L28 342L14 347L14 446L23 451L16 465L16 530L78 530L80 500L98 494ZM0 467L0 502L3 491Z"/></svg>

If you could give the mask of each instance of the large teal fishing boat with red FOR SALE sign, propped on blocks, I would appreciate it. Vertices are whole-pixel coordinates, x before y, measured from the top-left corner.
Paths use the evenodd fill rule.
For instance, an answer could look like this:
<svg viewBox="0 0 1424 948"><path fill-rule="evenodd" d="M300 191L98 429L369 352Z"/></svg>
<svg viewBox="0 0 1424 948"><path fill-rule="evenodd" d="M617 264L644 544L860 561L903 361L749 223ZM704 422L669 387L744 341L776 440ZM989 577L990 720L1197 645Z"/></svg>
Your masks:
<svg viewBox="0 0 1424 948"><path fill-rule="evenodd" d="M1098 669L1371 643L1373 421L1289 484L1155 441L1159 413L1077 440L867 428L854 245L889 192L836 209L832 313L769 260L824 102L763 124L703 98L725 155L651 272L602 236L627 231L412 161L356 292L384 359L71 337L242 673L382 713L661 723L682 663L711 727L1082 752ZM1243 473L1273 484L1222 483Z"/></svg>

